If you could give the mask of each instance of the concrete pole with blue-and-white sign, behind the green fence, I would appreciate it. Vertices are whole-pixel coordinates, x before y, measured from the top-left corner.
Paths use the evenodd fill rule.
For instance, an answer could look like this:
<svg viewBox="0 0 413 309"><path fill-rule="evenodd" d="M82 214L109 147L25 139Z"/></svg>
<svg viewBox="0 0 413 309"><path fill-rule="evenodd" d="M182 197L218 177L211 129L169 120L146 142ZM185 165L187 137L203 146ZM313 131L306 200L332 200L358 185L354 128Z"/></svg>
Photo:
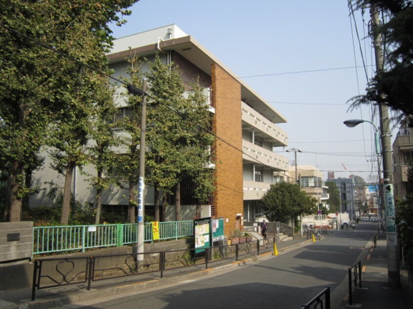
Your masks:
<svg viewBox="0 0 413 309"><path fill-rule="evenodd" d="M146 134L146 87L147 80L143 83L142 119L141 119L141 145L139 153L139 191L138 191L138 253L144 253L145 242L145 134ZM144 254L138 254L138 263L144 260Z"/></svg>

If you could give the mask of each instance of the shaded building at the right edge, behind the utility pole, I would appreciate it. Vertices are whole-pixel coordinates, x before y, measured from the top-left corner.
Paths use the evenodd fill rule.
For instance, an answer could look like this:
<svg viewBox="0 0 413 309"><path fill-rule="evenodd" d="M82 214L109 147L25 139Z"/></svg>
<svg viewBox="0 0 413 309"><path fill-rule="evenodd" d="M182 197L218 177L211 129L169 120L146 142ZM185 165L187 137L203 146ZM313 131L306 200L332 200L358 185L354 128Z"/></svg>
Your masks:
<svg viewBox="0 0 413 309"><path fill-rule="evenodd" d="M413 116L405 117L393 142L394 197L403 198L412 192L407 179L408 164L413 159Z"/></svg>

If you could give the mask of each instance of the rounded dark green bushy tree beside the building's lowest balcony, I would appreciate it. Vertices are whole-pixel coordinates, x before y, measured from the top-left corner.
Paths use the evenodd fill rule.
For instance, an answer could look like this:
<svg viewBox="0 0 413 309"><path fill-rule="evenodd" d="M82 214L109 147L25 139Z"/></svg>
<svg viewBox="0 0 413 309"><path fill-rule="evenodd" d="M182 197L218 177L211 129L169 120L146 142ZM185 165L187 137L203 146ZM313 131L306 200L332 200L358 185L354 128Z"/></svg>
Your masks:
<svg viewBox="0 0 413 309"><path fill-rule="evenodd" d="M316 210L316 204L301 191L300 186L288 182L272 184L261 202L266 217L273 222L287 222L291 216Z"/></svg>

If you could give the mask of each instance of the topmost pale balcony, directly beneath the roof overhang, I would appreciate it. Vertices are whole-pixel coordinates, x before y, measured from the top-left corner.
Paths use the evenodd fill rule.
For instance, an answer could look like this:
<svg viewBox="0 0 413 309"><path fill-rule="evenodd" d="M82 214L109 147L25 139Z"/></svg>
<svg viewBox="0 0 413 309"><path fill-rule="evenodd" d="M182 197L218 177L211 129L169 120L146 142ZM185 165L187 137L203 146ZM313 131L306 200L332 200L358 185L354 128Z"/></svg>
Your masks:
<svg viewBox="0 0 413 309"><path fill-rule="evenodd" d="M252 131L254 129L254 134L270 143L272 147L288 145L288 136L283 130L244 102L242 102L242 121L243 130Z"/></svg>

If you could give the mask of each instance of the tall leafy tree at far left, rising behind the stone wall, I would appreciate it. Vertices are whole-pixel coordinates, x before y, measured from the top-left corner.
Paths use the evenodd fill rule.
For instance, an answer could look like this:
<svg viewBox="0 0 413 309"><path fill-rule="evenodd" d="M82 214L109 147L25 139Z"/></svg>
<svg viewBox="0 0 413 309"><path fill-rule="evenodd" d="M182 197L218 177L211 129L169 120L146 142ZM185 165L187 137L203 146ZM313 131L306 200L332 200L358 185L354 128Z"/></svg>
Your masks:
<svg viewBox="0 0 413 309"><path fill-rule="evenodd" d="M24 185L26 173L35 168L34 162L47 132L45 128L50 128L50 116L55 124L78 116L79 113L70 112L64 116L63 109L71 109L71 104L79 107L79 100L87 96L87 79L83 79L87 72L79 63L63 59L24 36L53 46L88 65L103 68L107 62L105 52L113 39L107 23L122 24L120 16L130 13L125 9L133 2L1 2L0 118L5 130L1 132L0 147L1 169L8 174L10 188L10 221L21 220L22 197L30 193ZM76 164L72 159L69 161L67 170ZM66 193L65 200L69 198Z"/></svg>

